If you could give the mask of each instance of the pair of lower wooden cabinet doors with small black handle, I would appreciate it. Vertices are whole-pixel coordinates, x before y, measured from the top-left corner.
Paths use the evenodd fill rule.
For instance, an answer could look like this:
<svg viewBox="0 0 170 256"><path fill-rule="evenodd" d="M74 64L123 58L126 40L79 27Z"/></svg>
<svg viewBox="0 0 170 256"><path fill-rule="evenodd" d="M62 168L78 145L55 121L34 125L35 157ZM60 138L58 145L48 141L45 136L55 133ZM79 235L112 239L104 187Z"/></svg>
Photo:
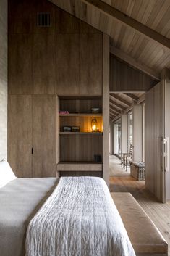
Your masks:
<svg viewBox="0 0 170 256"><path fill-rule="evenodd" d="M18 177L56 176L56 96L9 96L8 161Z"/></svg>

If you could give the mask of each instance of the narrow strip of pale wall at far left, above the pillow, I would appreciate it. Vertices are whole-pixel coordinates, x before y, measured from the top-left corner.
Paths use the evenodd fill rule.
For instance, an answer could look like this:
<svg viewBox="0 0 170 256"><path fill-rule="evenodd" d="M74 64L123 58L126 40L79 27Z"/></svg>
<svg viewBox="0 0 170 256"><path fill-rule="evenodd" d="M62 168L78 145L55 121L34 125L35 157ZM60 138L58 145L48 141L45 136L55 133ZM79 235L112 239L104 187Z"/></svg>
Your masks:
<svg viewBox="0 0 170 256"><path fill-rule="evenodd" d="M0 160L7 159L7 0L0 1Z"/></svg>

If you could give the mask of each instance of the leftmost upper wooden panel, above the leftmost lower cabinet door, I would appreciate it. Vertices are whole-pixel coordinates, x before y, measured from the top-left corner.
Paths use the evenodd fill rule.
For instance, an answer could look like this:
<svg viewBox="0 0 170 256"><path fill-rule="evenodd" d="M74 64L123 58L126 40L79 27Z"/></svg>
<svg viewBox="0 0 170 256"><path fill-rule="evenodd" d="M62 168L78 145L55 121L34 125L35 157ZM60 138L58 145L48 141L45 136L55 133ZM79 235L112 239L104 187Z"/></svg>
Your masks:
<svg viewBox="0 0 170 256"><path fill-rule="evenodd" d="M9 94L33 94L32 37L9 34Z"/></svg>

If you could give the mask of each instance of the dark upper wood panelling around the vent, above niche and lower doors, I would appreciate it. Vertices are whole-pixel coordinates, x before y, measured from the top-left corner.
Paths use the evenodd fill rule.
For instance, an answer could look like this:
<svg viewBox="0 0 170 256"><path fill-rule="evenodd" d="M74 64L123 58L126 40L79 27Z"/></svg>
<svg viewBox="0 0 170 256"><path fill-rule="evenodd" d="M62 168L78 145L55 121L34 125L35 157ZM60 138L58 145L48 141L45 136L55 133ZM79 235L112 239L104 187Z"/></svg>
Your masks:
<svg viewBox="0 0 170 256"><path fill-rule="evenodd" d="M100 31L47 0L9 0L9 94L102 95L102 48Z"/></svg>

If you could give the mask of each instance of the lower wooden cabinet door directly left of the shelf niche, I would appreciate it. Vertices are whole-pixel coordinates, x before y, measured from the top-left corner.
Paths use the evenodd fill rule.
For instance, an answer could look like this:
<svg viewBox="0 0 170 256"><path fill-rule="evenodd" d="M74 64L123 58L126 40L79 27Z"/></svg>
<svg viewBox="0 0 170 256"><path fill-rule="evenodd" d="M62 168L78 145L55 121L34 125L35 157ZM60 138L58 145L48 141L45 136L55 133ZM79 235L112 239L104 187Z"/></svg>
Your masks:
<svg viewBox="0 0 170 256"><path fill-rule="evenodd" d="M33 177L56 176L56 96L33 96Z"/></svg>

